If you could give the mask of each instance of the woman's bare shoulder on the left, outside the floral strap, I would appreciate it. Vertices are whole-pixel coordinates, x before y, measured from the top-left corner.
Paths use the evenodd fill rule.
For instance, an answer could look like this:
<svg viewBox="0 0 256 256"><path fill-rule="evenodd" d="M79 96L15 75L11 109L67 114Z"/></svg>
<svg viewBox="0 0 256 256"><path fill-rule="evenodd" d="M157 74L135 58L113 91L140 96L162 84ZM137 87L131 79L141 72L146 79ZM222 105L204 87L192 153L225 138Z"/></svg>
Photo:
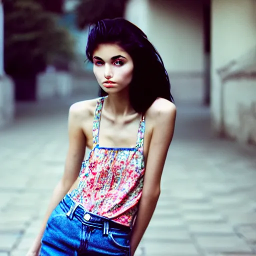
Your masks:
<svg viewBox="0 0 256 256"><path fill-rule="evenodd" d="M69 116L82 118L93 116L98 98L73 103L69 108Z"/></svg>

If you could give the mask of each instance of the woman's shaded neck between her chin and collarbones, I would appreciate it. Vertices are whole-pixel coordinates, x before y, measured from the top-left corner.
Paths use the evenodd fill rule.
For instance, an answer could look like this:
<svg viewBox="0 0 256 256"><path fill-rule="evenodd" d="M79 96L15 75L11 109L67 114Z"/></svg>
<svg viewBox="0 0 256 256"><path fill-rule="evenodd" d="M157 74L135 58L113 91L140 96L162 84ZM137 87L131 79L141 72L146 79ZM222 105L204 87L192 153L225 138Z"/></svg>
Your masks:
<svg viewBox="0 0 256 256"><path fill-rule="evenodd" d="M123 93L123 91L121 93L108 94L104 102L104 108L114 116L125 116L135 113L130 104L128 93Z"/></svg>

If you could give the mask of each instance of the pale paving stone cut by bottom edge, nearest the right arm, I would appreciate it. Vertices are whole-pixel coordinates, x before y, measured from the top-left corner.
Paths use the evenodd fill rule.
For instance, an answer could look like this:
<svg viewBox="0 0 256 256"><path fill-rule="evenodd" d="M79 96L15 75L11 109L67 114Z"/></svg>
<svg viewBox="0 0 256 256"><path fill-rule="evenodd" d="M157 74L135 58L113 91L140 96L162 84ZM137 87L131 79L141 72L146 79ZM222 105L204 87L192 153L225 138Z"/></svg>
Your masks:
<svg viewBox="0 0 256 256"><path fill-rule="evenodd" d="M198 256L199 253L193 243L189 242L155 242L154 240L144 243L146 256Z"/></svg>

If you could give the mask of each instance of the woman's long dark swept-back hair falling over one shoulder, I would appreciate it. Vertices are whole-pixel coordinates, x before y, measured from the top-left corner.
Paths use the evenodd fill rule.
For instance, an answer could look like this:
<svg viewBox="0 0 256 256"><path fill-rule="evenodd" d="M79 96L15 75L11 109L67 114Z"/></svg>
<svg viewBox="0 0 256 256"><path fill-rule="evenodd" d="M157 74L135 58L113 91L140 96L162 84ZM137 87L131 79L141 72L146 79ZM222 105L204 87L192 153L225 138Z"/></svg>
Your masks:
<svg viewBox="0 0 256 256"><path fill-rule="evenodd" d="M90 26L86 56L93 62L93 52L101 43L116 43L133 60L129 97L136 112L144 113L157 97L173 102L170 82L163 61L137 26L124 18L103 19ZM100 89L100 96L107 93Z"/></svg>

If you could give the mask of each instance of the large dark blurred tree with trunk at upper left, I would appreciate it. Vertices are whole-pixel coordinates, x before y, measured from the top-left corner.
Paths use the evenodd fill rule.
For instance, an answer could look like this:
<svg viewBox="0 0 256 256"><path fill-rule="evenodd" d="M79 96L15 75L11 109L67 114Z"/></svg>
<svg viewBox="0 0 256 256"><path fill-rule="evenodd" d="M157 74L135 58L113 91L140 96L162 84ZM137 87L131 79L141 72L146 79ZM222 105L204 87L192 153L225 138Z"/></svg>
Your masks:
<svg viewBox="0 0 256 256"><path fill-rule="evenodd" d="M36 74L58 58L72 59L73 40L37 0L4 0L3 9L5 72L16 99L35 99Z"/></svg>

